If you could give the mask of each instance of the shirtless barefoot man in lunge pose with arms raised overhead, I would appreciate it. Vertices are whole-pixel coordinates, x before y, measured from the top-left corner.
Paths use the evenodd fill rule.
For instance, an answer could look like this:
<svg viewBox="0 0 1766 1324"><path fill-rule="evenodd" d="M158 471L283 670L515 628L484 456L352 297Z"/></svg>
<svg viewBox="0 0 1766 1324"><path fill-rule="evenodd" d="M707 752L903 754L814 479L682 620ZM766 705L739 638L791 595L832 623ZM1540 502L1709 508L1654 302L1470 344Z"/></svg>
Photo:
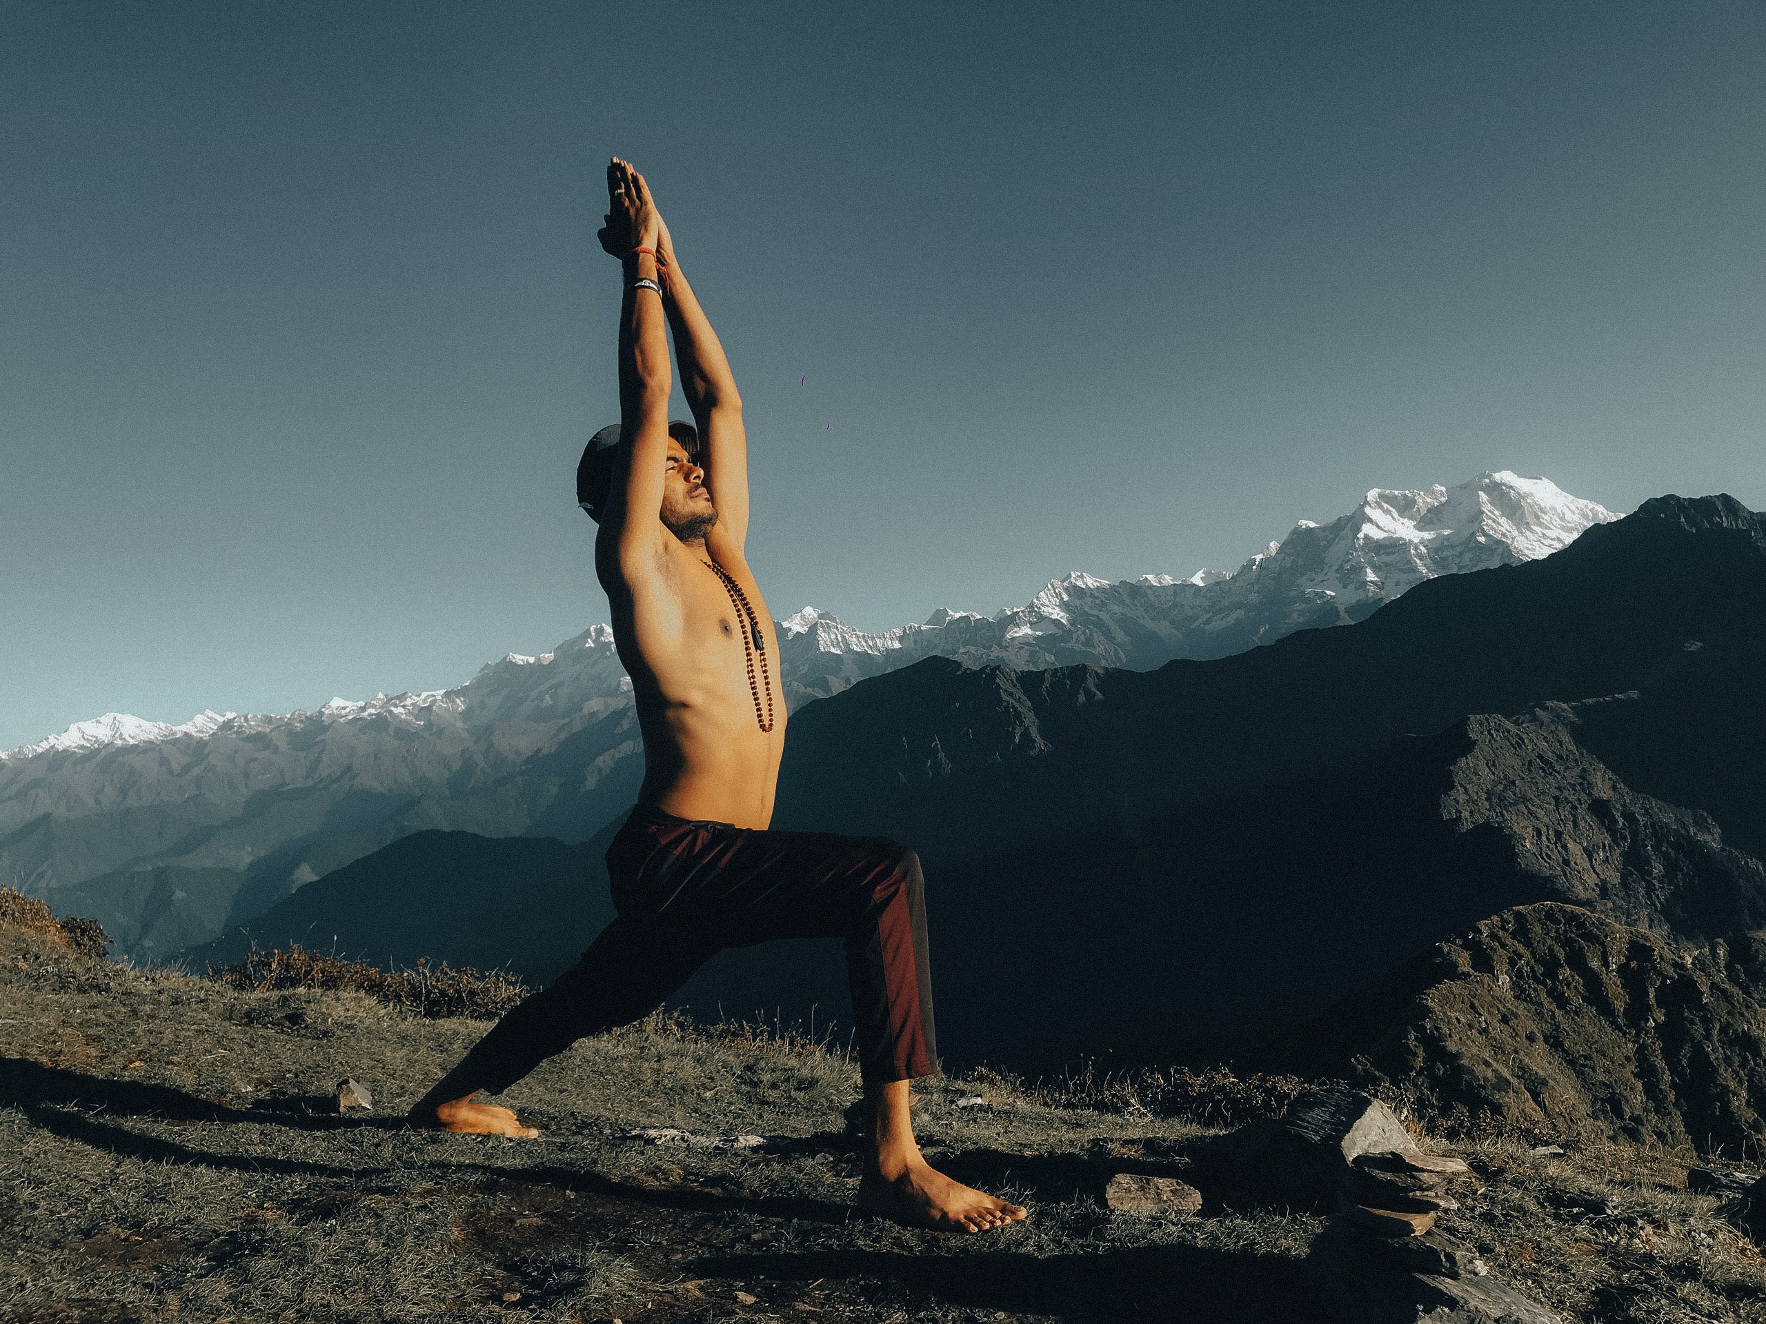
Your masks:
<svg viewBox="0 0 1766 1324"><path fill-rule="evenodd" d="M874 837L766 830L786 713L772 614L742 554L742 401L643 177L615 159L608 196L600 242L625 267L620 424L583 455L577 498L600 523L595 572L645 738L638 807L608 847L618 918L410 1117L539 1135L473 1096L505 1091L585 1034L648 1015L726 946L839 936L872 1117L860 1206L950 1232L1001 1227L1024 1211L927 1165L908 1117L909 1079L936 1070L918 858ZM664 320L698 427L668 422Z"/></svg>

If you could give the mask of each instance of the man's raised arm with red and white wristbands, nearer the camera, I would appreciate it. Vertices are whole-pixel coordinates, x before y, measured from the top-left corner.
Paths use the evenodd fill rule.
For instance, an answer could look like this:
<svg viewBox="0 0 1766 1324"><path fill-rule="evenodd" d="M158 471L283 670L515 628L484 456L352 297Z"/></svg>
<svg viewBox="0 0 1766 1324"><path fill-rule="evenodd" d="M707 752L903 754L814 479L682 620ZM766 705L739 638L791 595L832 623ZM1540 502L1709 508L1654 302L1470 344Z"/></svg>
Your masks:
<svg viewBox="0 0 1766 1324"><path fill-rule="evenodd" d="M618 157L608 166L608 229L602 244L625 265L620 305L620 445L602 533L618 537L622 570L638 570L662 537L662 468L668 461L668 397L673 383L655 249L662 219L645 177ZM648 249L638 252L636 249ZM645 284L648 282L648 284ZM653 568L646 560L641 570Z"/></svg>

